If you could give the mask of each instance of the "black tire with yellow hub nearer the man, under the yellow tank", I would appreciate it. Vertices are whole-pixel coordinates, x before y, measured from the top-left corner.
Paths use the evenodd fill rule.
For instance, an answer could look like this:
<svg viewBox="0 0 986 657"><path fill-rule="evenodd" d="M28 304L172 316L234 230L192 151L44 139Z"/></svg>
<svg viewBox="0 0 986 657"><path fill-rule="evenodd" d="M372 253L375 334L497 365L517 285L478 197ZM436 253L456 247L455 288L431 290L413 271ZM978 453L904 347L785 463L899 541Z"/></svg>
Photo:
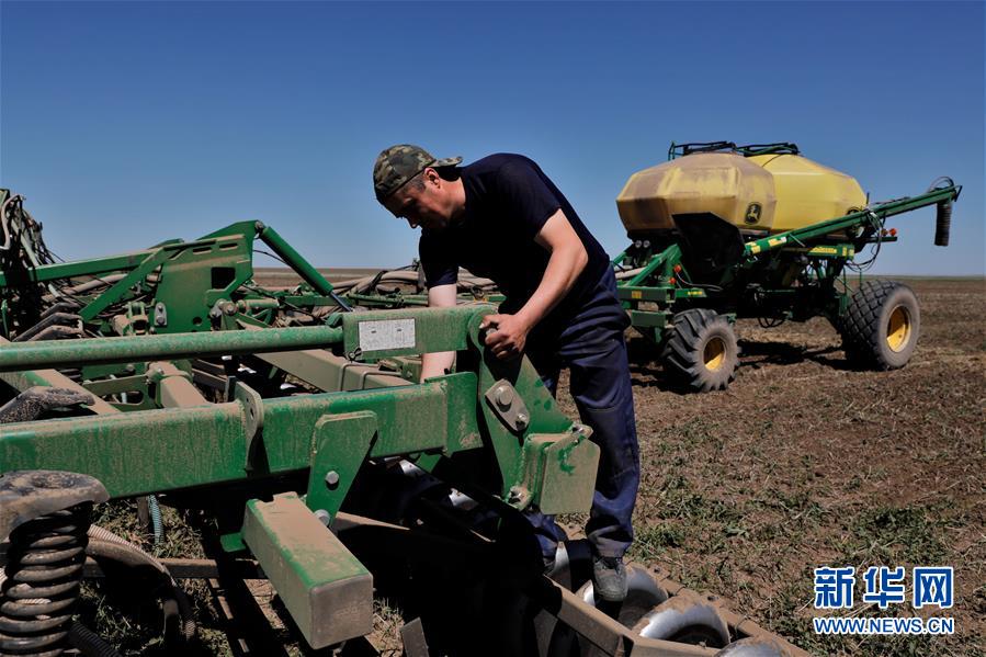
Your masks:
<svg viewBox="0 0 986 657"><path fill-rule="evenodd" d="M684 310L672 317L662 355L671 377L695 393L725 389L736 378L739 364L733 326L706 308Z"/></svg>

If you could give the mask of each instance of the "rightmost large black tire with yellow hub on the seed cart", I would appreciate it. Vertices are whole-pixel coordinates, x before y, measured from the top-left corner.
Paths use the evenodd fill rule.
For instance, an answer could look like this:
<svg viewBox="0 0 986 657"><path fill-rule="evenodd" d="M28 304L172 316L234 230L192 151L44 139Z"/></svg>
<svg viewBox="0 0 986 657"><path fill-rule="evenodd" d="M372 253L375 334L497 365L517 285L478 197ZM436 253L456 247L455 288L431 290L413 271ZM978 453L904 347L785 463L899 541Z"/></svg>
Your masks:
<svg viewBox="0 0 986 657"><path fill-rule="evenodd" d="M865 281L839 324L850 363L866 370L896 370L907 364L918 343L918 297L903 283Z"/></svg>

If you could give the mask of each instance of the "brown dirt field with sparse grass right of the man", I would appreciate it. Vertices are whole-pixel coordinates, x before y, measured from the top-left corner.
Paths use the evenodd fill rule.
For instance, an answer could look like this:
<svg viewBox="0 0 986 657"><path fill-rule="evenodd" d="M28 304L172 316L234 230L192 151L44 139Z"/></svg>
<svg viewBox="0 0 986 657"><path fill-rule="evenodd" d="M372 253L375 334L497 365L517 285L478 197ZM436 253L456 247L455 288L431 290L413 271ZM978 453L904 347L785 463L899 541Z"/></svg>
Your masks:
<svg viewBox="0 0 986 657"><path fill-rule="evenodd" d="M986 654L986 285L909 284L920 339L893 372L848 369L825 320L740 321L730 388L680 395L633 339L643 482L632 556L813 654ZM953 566L954 607L921 615L954 618L954 636L816 635L821 566L857 568L857 604L838 615L882 616L916 613L913 566ZM908 602L861 603L869 566L905 566Z"/></svg>

